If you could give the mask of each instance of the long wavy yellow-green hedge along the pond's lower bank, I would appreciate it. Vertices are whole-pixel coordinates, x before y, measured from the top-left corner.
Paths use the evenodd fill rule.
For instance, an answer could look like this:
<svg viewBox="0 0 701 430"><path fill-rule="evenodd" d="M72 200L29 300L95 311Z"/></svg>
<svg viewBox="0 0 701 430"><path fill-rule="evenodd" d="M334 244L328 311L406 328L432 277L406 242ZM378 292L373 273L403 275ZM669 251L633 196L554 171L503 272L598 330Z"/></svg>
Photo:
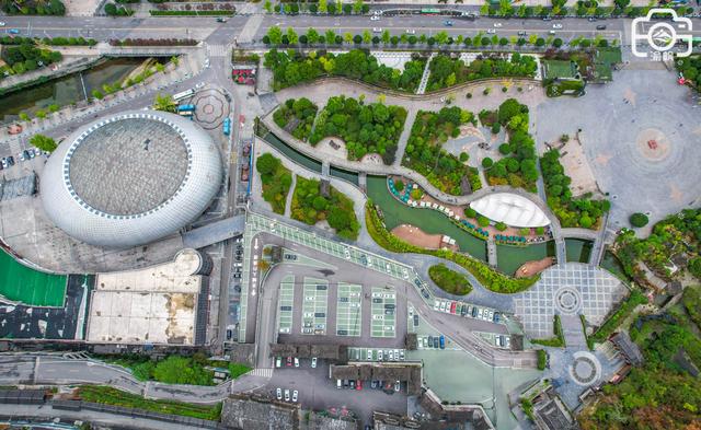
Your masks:
<svg viewBox="0 0 701 430"><path fill-rule="evenodd" d="M474 276L482 286L484 286L484 288L494 292L507 294L520 292L527 290L538 279L540 279L539 275L530 278L512 278L495 271L484 263L466 254L448 249L425 249L420 246L411 245L387 231L370 199L368 199L365 207L365 221L368 233L372 240L384 249L394 253L415 253L445 258L462 266L466 270L472 274L472 276Z"/></svg>

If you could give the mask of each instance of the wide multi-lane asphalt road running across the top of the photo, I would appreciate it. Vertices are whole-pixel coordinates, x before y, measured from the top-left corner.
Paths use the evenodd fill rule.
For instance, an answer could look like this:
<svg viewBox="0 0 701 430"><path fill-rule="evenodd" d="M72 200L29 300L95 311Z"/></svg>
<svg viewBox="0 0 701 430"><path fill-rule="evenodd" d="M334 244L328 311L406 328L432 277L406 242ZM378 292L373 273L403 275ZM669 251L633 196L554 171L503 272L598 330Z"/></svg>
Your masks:
<svg viewBox="0 0 701 430"><path fill-rule="evenodd" d="M126 38L126 37L175 37L208 39L210 43L228 44L237 37L251 15L234 15L226 23L217 23L215 18L102 18L102 16L7 16L5 31L18 28L23 36L83 36L95 39ZM183 23L186 20L186 25ZM317 30L333 28L337 33L361 33L364 30L389 30L392 34L402 34L413 30L420 34L435 34L446 31L452 36L459 34L474 35L478 32L495 30L498 36L513 36L525 31L528 34L548 35L553 25L561 24L562 28L554 30L558 37L570 39L577 36L593 37L600 34L607 38L622 38L624 45L630 44L629 19L609 19L589 22L586 19L565 18L561 20L543 21L540 19L492 19L480 18L474 21L466 19L450 19L452 26L446 26L445 16L437 15L402 15L384 16L379 21L370 21L368 16L320 16L320 15L265 15L255 36L260 40L274 25L294 27L298 32L309 27ZM499 25L499 27L495 27ZM606 25L605 31L597 31L597 25ZM691 33L699 35L701 28L697 26Z"/></svg>

